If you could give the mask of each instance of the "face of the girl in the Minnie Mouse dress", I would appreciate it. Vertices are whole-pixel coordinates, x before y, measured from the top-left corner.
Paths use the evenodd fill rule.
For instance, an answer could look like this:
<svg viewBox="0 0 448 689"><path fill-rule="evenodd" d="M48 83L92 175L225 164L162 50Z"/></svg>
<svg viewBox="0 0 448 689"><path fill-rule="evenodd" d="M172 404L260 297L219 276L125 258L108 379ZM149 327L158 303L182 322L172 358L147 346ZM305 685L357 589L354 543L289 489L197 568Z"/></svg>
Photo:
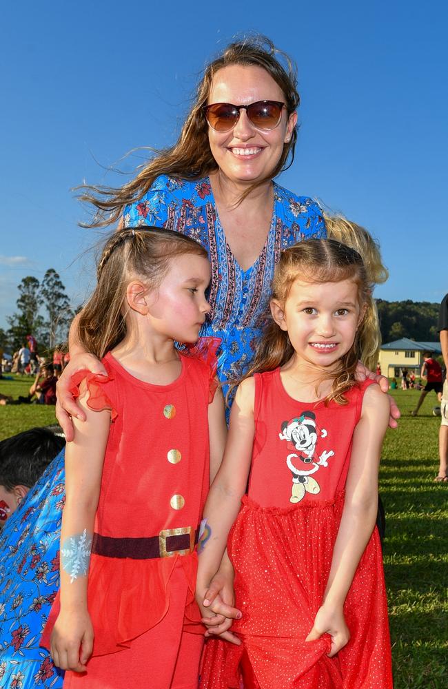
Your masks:
<svg viewBox="0 0 448 689"><path fill-rule="evenodd" d="M283 309L273 300L272 313L301 362L330 367L352 347L363 315L352 280L295 280Z"/></svg>

